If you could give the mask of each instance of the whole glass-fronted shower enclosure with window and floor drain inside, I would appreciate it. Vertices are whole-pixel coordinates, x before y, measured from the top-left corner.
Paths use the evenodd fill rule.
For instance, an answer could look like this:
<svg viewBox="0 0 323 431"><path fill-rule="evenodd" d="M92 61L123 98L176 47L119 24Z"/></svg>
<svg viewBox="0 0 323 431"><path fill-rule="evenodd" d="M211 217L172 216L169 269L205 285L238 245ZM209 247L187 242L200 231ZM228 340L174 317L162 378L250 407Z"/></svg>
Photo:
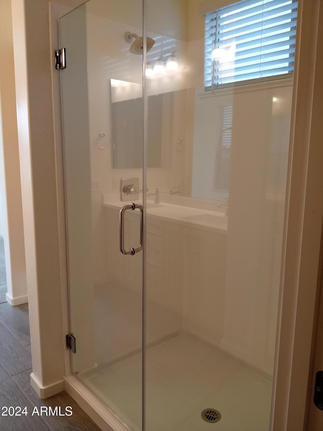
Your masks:
<svg viewBox="0 0 323 431"><path fill-rule="evenodd" d="M131 431L271 426L297 2L218 3L59 22L71 367Z"/></svg>

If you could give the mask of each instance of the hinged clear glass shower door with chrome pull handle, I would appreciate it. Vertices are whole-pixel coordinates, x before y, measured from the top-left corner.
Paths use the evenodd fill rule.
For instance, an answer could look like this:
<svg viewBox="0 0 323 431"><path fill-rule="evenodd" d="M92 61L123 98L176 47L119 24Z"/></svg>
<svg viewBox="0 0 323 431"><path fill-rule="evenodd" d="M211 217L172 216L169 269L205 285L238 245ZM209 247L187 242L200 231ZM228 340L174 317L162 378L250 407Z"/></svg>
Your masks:
<svg viewBox="0 0 323 431"><path fill-rule="evenodd" d="M72 368L139 431L142 253L119 250L119 211L142 203L142 56L129 51L140 44L133 33L142 35L137 0L91 0L60 20ZM139 212L125 213L126 250L140 243Z"/></svg>

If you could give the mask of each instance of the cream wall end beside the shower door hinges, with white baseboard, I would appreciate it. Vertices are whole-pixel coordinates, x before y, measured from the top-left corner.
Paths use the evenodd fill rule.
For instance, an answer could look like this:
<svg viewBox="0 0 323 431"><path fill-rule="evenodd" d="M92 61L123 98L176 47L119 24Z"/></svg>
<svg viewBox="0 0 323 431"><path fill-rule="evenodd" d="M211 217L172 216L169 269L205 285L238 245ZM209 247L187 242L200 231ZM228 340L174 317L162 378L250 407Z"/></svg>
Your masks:
<svg viewBox="0 0 323 431"><path fill-rule="evenodd" d="M65 352L48 3L12 0L33 385L42 397L64 388Z"/></svg>

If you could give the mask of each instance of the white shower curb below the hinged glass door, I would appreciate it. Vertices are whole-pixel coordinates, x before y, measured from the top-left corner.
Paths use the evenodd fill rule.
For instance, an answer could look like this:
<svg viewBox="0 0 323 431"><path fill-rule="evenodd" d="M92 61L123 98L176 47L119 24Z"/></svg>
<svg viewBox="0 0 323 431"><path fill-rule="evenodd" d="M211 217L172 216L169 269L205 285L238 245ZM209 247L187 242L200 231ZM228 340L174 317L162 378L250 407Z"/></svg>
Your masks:
<svg viewBox="0 0 323 431"><path fill-rule="evenodd" d="M77 377L64 378L66 392L102 431L130 431Z"/></svg>

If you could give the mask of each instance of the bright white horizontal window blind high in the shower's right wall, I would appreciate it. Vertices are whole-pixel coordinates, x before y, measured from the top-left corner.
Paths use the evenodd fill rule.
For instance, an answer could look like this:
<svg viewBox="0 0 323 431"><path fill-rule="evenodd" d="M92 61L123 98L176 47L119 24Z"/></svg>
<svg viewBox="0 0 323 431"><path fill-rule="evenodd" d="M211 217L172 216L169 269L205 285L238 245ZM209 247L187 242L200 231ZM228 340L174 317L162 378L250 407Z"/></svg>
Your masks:
<svg viewBox="0 0 323 431"><path fill-rule="evenodd" d="M205 88L293 73L296 18L297 0L242 0L206 14Z"/></svg>

